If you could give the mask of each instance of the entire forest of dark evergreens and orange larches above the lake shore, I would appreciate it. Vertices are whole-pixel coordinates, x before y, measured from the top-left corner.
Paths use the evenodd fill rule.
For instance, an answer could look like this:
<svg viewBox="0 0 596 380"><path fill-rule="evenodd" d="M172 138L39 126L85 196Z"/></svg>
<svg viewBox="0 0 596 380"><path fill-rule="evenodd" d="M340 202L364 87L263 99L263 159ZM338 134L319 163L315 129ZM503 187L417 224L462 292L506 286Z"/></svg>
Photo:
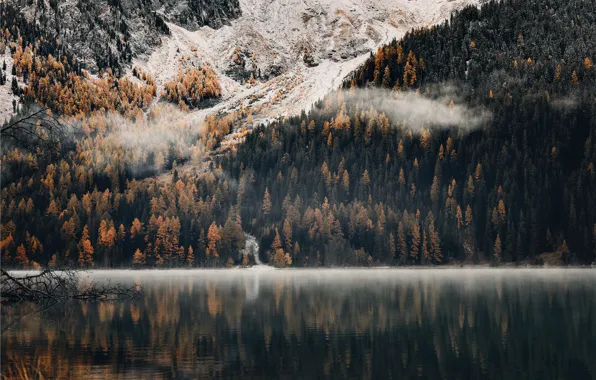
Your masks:
<svg viewBox="0 0 596 380"><path fill-rule="evenodd" d="M595 18L591 0L465 8L380 48L308 114L207 159L237 118L195 131L178 111L149 108L151 78L120 86L126 79L108 71L94 84L104 90L82 103L91 116L73 110L81 102L66 112L53 91L25 88L30 102L79 114L80 131L60 158L3 142L3 265L247 264L243 231L277 266L591 263ZM13 34L13 53L35 62ZM68 77L50 58L39 64L49 89ZM48 74L56 66L58 80ZM210 73L189 77L217 95ZM419 125L376 109L370 94L379 93L492 116L472 130ZM196 105L184 92L163 96ZM131 148L114 139L122 124L174 137Z"/></svg>

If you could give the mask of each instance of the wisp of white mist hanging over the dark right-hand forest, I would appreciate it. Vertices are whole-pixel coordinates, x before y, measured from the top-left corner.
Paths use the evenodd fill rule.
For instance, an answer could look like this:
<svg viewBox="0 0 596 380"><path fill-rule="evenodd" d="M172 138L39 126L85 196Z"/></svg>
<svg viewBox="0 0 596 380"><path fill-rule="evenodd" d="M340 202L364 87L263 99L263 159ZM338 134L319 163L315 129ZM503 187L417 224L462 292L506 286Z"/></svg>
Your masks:
<svg viewBox="0 0 596 380"><path fill-rule="evenodd" d="M463 131L482 128L492 118L484 107L468 107L459 101L457 89L452 85L430 88L427 95L413 91L395 92L389 89L351 89L344 97L348 105L358 104L362 109L370 106L383 112L394 124L419 132L422 128L447 129L456 127ZM453 103L451 103L453 102Z"/></svg>

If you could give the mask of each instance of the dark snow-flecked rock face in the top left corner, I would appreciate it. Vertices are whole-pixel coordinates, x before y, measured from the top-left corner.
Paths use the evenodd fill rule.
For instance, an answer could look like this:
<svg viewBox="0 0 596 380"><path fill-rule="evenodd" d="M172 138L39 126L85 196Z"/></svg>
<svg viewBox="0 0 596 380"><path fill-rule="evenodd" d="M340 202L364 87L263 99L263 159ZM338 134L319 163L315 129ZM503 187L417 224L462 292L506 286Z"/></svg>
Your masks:
<svg viewBox="0 0 596 380"><path fill-rule="evenodd" d="M190 30L219 28L241 13L238 0L7 0L0 5L3 23L24 29L31 40L60 41L92 72L118 69L153 50L169 34L166 21Z"/></svg>

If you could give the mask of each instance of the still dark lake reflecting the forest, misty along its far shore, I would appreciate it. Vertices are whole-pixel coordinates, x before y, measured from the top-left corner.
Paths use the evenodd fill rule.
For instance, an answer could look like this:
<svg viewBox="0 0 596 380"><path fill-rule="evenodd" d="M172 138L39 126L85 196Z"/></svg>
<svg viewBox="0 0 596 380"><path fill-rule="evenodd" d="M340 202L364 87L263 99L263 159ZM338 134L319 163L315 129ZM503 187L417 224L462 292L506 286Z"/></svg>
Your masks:
<svg viewBox="0 0 596 380"><path fill-rule="evenodd" d="M46 378L595 379L596 270L94 271L141 299L2 334ZM14 321L30 305L3 308Z"/></svg>

